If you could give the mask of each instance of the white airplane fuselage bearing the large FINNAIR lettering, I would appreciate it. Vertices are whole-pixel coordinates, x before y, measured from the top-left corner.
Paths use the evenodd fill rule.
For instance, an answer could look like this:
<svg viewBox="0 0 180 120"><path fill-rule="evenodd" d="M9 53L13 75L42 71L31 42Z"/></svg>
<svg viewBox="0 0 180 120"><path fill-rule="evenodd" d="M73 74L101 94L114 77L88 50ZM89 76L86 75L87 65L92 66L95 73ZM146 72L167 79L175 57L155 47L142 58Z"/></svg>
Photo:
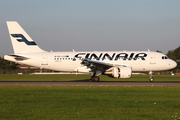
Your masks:
<svg viewBox="0 0 180 120"><path fill-rule="evenodd" d="M84 58L117 66L125 65L131 67L132 71L162 71L177 65L166 55L150 51L41 52L16 55L28 59L17 60L9 55L5 55L4 58L19 64L67 72L88 72L89 70L81 65Z"/></svg>

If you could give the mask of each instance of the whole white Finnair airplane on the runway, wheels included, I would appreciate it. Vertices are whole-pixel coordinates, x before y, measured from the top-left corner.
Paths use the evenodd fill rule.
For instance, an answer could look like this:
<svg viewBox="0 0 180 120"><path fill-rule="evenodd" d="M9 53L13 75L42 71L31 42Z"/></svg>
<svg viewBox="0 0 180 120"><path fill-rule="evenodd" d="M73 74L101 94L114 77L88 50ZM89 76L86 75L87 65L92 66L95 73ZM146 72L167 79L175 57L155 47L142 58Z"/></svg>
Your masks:
<svg viewBox="0 0 180 120"><path fill-rule="evenodd" d="M149 72L153 82L154 71L170 70L177 63L165 54L148 51L72 51L47 52L42 50L16 21L7 21L14 53L4 59L18 64L64 72L93 73L91 81L99 75L113 78L131 78L132 72Z"/></svg>

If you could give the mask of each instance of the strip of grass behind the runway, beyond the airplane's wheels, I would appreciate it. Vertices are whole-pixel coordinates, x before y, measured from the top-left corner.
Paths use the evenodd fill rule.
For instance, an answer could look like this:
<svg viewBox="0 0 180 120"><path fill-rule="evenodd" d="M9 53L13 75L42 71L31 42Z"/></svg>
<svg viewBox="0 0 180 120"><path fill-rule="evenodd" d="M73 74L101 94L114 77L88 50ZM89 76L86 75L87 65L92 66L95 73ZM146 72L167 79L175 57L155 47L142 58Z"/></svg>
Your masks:
<svg viewBox="0 0 180 120"><path fill-rule="evenodd" d="M179 76L154 75L155 81L180 81ZM0 81L90 81L91 75L0 75ZM133 75L130 79L116 79L100 76L100 81L146 81L149 75Z"/></svg>

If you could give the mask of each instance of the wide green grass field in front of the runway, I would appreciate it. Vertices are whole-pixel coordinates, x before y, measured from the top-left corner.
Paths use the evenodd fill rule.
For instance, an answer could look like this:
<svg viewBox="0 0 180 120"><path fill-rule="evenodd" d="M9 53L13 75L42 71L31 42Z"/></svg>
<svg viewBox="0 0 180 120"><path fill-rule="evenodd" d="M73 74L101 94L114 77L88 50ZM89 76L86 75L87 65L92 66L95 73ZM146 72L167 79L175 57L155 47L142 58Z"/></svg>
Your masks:
<svg viewBox="0 0 180 120"><path fill-rule="evenodd" d="M0 86L1 120L180 119L180 87Z"/></svg>

